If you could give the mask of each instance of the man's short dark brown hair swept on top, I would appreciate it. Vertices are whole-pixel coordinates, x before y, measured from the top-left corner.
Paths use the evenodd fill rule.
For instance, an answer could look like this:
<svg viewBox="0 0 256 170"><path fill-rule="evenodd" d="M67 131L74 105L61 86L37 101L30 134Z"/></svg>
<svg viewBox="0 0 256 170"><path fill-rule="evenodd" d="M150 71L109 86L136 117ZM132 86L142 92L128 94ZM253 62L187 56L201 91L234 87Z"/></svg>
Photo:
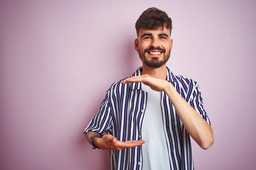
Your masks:
<svg viewBox="0 0 256 170"><path fill-rule="evenodd" d="M148 8L145 10L135 24L137 36L139 36L140 28L154 30L158 28L170 29L172 33L172 19L168 17L166 12L157 8Z"/></svg>

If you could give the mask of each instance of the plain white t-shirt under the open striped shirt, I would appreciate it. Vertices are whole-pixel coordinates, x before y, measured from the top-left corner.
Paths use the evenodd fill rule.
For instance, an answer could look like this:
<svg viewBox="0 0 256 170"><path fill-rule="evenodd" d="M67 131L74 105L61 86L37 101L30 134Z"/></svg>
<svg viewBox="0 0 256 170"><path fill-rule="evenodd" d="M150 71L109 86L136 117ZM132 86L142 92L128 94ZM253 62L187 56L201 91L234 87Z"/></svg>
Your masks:
<svg viewBox="0 0 256 170"><path fill-rule="evenodd" d="M141 139L145 141L145 144L142 144L143 170L170 170L168 147L163 129L162 92L154 91L144 84L142 89L148 92L141 130Z"/></svg>

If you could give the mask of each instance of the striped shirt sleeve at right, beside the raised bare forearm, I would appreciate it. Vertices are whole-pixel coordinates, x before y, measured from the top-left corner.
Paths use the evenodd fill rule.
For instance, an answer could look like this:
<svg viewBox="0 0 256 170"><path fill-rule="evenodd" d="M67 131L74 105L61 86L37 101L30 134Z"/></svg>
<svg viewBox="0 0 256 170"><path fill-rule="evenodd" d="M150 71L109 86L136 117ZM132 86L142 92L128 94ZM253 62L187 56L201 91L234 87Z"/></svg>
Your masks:
<svg viewBox="0 0 256 170"><path fill-rule="evenodd" d="M211 122L207 116L207 113L204 110L203 98L202 98L201 91L198 84L196 84L195 86L195 90L192 93L192 99L190 100L189 105L191 105L202 116L202 118L207 123L209 123L209 125L211 125Z"/></svg>

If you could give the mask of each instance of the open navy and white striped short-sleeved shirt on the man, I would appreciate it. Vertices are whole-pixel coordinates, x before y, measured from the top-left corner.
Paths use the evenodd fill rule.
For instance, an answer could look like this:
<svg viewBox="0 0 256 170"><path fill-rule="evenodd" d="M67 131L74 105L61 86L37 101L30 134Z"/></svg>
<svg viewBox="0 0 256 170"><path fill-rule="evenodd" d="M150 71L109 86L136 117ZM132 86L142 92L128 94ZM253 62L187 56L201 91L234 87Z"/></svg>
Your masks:
<svg viewBox="0 0 256 170"><path fill-rule="evenodd" d="M142 67L133 76L140 76ZM183 76L175 76L168 67L167 81L176 91L210 124L197 82ZM126 78L125 78L126 79ZM103 135L111 134L119 141L140 140L144 111L147 106L147 92L141 82L113 83L106 92L99 111L90 121L84 133L93 131ZM172 102L162 92L163 125L172 170L193 170L192 148L189 133L180 121ZM154 135L154 134L152 134ZM157 146L156 146L157 147ZM122 150L110 150L112 170L142 170L142 145Z"/></svg>

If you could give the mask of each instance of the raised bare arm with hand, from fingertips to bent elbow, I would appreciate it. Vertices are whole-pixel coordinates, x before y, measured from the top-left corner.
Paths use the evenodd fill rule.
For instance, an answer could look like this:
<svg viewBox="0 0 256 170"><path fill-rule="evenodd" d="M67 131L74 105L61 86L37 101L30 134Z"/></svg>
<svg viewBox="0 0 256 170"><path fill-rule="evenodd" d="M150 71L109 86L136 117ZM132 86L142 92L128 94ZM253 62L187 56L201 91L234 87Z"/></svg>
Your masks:
<svg viewBox="0 0 256 170"><path fill-rule="evenodd" d="M212 127L180 96L171 83L146 74L125 79L121 83L126 84L132 82L143 82L154 91L164 91L175 107L181 122L192 139L203 149L208 149L213 144Z"/></svg>

